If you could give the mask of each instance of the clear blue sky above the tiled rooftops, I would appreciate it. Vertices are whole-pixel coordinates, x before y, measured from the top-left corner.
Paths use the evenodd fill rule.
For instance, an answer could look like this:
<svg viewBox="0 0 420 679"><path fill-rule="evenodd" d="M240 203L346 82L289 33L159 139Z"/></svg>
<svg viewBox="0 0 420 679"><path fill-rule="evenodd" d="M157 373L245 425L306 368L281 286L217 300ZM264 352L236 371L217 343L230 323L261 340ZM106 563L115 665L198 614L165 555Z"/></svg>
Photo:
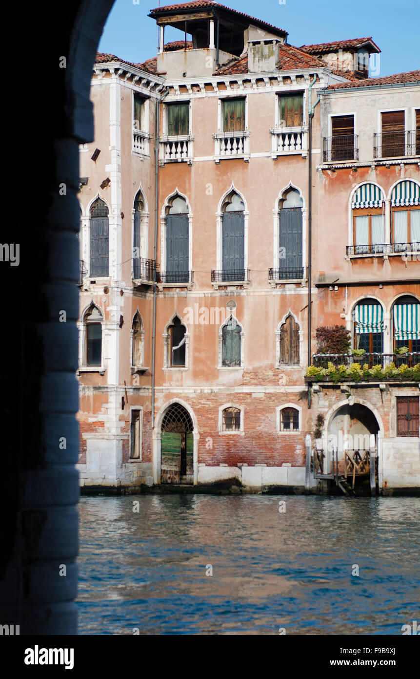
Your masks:
<svg viewBox="0 0 420 679"><path fill-rule="evenodd" d="M156 55L156 23L149 10L159 0L116 0L99 43L99 52L142 62ZM284 0L280 0L282 3ZM160 5L170 4L161 0ZM222 0L221 4L288 31L288 42L304 45L372 36L382 50L376 76L420 68L420 0ZM166 29L165 42L180 39Z"/></svg>

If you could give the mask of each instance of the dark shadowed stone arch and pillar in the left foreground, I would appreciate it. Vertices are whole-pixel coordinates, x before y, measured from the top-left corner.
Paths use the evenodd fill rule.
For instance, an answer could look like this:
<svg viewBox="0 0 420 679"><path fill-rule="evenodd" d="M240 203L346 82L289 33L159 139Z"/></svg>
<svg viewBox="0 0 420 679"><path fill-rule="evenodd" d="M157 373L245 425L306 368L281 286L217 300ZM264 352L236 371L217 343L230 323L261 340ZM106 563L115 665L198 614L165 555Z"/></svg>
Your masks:
<svg viewBox="0 0 420 679"><path fill-rule="evenodd" d="M7 131L12 155L21 164L7 197L15 216L6 220L2 241L19 241L20 261L12 265L10 258L10 265L2 261L0 267L7 323L3 441L8 439L3 445L0 623L20 625L26 635L77 633L79 144L94 138L90 79L112 5L113 0L75 0L60 7L46 0L42 14L52 20L41 28L39 6L28 3L27 31L19 36L26 78L15 96L32 105L14 107L20 111ZM22 27L22 7L11 10L15 25ZM66 68L60 68L63 56ZM41 77L33 77L30 71L39 68ZM28 111L29 153L16 143L28 129ZM33 196L31 219L17 228L24 183ZM61 310L66 323L60 323ZM63 565L65 577L60 576Z"/></svg>

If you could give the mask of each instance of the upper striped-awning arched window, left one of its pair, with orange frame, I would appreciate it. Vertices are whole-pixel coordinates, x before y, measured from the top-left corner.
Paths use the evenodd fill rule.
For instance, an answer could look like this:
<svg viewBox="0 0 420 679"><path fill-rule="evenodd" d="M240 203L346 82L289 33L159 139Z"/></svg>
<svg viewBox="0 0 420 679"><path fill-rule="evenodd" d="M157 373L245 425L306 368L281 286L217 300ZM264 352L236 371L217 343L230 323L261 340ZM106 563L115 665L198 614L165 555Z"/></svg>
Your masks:
<svg viewBox="0 0 420 679"><path fill-rule="evenodd" d="M385 202L375 184L358 187L351 202L354 255L383 253L385 250Z"/></svg>

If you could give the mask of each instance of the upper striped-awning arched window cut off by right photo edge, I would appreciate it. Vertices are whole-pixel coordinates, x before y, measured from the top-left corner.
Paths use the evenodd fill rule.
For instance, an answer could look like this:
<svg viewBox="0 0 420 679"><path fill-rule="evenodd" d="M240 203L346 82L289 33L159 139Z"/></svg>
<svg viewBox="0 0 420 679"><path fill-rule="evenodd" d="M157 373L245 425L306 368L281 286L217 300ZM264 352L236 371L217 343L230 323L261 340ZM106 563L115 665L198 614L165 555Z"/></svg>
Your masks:
<svg viewBox="0 0 420 679"><path fill-rule="evenodd" d="M394 252L404 252L407 243L420 242L420 186L408 179L396 184L391 210Z"/></svg>

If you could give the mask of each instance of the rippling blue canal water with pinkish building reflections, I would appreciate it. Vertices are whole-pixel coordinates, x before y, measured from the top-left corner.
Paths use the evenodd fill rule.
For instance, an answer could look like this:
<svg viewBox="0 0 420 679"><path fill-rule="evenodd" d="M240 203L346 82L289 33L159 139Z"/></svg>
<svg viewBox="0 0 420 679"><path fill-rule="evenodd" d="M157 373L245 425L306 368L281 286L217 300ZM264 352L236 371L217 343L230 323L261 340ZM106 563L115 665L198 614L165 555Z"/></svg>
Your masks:
<svg viewBox="0 0 420 679"><path fill-rule="evenodd" d="M419 508L419 498L81 498L79 634L401 634L419 619Z"/></svg>

